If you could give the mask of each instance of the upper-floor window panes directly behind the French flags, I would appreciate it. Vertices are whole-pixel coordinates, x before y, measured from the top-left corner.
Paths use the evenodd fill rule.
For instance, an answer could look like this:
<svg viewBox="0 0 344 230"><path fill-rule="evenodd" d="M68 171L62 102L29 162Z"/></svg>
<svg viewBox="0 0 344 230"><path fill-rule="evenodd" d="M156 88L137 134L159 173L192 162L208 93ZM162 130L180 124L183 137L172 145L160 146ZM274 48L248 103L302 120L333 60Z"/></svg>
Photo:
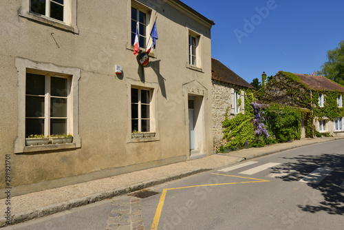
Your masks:
<svg viewBox="0 0 344 230"><path fill-rule="evenodd" d="M145 49L147 43L147 12L131 7L131 45L135 41L136 24L138 23L138 44Z"/></svg>

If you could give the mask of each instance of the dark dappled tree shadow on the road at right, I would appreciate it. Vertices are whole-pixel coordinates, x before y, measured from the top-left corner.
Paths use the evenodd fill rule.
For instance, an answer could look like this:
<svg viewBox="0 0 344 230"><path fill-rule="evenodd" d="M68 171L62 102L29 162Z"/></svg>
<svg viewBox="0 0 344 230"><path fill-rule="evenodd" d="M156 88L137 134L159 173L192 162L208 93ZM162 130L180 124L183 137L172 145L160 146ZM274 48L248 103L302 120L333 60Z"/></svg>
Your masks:
<svg viewBox="0 0 344 230"><path fill-rule="evenodd" d="M302 211L315 213L326 211L330 214L344 215L344 189L341 185L344 180L344 156L341 154L321 154L319 156L299 155L293 158L284 158L297 160L296 163L286 163L281 167L273 168L272 173L280 173L283 170L291 170L291 174L281 177L284 181L299 181L309 175L319 167L334 169L330 175L323 179L319 184L312 183L316 180L316 175L311 176L308 186L321 191L323 202L319 205L299 205Z"/></svg>

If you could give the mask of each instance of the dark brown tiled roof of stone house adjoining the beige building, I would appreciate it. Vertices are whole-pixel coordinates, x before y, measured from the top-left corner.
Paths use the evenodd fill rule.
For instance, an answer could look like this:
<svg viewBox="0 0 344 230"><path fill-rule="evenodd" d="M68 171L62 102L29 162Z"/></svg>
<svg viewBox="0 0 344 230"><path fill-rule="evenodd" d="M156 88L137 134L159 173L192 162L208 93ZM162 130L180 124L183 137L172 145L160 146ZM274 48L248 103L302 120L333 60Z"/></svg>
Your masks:
<svg viewBox="0 0 344 230"><path fill-rule="evenodd" d="M244 79L241 79L239 75L235 74L226 65L213 58L211 59L211 79L255 89L255 87Z"/></svg>

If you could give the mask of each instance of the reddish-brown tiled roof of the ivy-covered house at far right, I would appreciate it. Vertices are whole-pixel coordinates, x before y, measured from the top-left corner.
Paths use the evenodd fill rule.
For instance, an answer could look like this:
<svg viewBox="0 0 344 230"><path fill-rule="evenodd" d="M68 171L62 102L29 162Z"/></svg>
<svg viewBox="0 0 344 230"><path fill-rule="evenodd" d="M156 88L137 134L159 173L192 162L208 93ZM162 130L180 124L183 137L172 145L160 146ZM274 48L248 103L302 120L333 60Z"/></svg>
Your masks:
<svg viewBox="0 0 344 230"><path fill-rule="evenodd" d="M312 90L325 90L325 91L340 91L344 92L344 87L334 83L330 79L326 79L325 76L316 76L308 74L295 74L299 76L301 81L308 85Z"/></svg>

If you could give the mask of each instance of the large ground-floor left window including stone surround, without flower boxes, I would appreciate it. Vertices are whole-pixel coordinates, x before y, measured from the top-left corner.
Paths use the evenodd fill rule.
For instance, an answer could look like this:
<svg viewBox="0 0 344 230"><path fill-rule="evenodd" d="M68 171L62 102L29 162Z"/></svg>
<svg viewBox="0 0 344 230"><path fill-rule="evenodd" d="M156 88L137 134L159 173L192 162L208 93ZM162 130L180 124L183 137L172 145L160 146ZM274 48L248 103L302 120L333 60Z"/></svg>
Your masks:
<svg viewBox="0 0 344 230"><path fill-rule="evenodd" d="M78 134L78 81L81 70L53 63L15 59L18 71L18 122L14 153L75 149ZM72 134L73 142L26 146L30 134Z"/></svg>

